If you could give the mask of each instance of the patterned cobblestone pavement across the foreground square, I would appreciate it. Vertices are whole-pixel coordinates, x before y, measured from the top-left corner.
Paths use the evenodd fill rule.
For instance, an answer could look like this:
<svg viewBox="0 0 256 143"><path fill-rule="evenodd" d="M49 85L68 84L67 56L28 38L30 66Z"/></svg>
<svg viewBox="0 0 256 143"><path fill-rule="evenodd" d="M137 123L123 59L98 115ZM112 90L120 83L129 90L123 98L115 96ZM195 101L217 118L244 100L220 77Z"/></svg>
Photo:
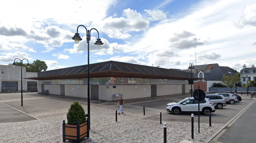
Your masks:
<svg viewBox="0 0 256 143"><path fill-rule="evenodd" d="M87 110L87 105L82 105ZM138 107L124 106L125 114L118 115L115 122L117 106L91 104L90 138L84 143L162 143L163 124L159 121L145 121L147 117ZM57 143L62 142L62 120L66 120L67 109L32 114L39 120L15 123L0 123L0 143ZM147 111L147 110L146 110ZM149 109L149 115L159 114L159 110ZM179 143L190 140L195 143L204 142L223 124L194 123L194 139L191 139L191 123L166 122L167 142ZM67 140L67 142L70 142Z"/></svg>

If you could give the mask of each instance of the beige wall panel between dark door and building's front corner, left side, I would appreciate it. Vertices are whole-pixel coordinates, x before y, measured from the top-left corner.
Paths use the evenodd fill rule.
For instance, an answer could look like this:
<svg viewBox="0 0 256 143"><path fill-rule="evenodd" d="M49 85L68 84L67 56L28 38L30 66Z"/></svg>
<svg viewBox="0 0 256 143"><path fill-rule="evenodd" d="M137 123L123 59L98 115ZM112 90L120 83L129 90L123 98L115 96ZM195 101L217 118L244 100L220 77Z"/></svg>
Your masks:
<svg viewBox="0 0 256 143"><path fill-rule="evenodd" d="M111 101L111 96L111 85L99 85L99 100Z"/></svg>

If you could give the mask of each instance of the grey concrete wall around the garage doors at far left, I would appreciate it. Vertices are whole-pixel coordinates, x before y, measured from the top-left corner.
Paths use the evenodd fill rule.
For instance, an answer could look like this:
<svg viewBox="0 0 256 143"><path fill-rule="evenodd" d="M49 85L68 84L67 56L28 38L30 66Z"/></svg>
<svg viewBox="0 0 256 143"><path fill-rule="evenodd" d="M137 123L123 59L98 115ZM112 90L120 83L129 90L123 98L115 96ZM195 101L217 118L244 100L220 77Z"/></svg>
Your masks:
<svg viewBox="0 0 256 143"><path fill-rule="evenodd" d="M3 70L4 74L0 73L0 91L2 91L2 81L16 81L18 82L18 91L21 91L21 67L20 66L9 66L0 65L0 69ZM37 81L24 79L27 77L37 77L37 73L26 72L26 67L22 67L22 88L27 91L27 81Z"/></svg>

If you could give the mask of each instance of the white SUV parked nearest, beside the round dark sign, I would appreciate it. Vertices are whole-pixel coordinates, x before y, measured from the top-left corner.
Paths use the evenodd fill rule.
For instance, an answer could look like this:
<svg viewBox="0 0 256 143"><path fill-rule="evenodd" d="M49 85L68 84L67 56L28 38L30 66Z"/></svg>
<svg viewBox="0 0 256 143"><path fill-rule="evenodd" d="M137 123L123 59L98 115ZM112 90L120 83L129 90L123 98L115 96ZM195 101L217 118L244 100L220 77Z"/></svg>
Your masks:
<svg viewBox="0 0 256 143"><path fill-rule="evenodd" d="M177 102L168 103L166 106L168 112L173 112L175 115L181 112L198 112L198 101L194 97L188 97ZM211 112L215 112L214 104L208 99L200 101L200 112L204 115L209 115Z"/></svg>

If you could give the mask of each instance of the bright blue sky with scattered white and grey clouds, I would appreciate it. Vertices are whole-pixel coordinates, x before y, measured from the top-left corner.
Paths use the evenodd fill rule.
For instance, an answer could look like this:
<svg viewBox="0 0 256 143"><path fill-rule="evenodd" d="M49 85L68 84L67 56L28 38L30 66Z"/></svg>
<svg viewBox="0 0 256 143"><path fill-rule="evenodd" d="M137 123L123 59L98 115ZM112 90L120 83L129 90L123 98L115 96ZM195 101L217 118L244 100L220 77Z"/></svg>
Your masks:
<svg viewBox="0 0 256 143"><path fill-rule="evenodd" d="M256 0L9 0L0 2L0 65L43 60L48 69L121 61L187 69L256 65ZM196 53L196 54L195 54ZM17 60L16 60L17 61ZM24 61L27 62L27 61Z"/></svg>

